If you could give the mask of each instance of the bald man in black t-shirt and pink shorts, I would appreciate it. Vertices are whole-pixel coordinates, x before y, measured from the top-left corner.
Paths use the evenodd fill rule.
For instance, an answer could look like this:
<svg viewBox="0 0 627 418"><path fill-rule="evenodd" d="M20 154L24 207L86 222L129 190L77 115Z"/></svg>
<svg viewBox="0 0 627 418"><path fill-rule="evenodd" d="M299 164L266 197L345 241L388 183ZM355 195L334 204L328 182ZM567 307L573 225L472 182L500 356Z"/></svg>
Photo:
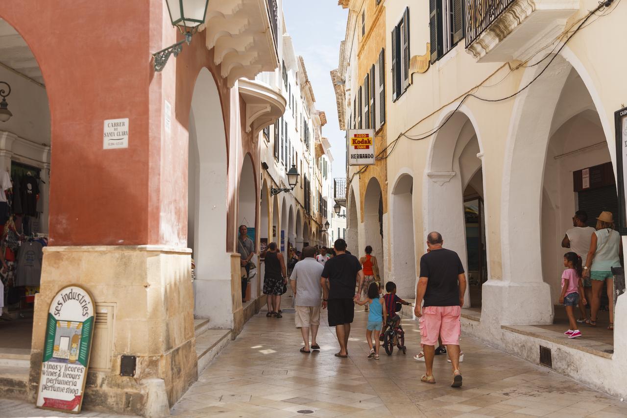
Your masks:
<svg viewBox="0 0 627 418"><path fill-rule="evenodd" d="M420 279L414 308L414 313L420 318L421 344L426 366L426 373L420 380L435 383L433 357L440 336L453 365L451 386L461 387L460 314L464 304L466 276L460 257L455 251L442 248L443 242L439 232L429 233L429 251L420 259Z"/></svg>

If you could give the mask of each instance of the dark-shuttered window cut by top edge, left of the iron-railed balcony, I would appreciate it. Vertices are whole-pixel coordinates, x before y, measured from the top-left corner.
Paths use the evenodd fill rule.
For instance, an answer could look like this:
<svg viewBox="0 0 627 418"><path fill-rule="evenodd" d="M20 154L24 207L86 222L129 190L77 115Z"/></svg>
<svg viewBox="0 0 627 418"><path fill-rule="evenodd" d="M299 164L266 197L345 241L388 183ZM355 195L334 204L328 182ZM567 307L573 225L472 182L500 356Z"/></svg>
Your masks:
<svg viewBox="0 0 627 418"><path fill-rule="evenodd" d="M463 0L429 0L432 63L463 39L463 8Z"/></svg>

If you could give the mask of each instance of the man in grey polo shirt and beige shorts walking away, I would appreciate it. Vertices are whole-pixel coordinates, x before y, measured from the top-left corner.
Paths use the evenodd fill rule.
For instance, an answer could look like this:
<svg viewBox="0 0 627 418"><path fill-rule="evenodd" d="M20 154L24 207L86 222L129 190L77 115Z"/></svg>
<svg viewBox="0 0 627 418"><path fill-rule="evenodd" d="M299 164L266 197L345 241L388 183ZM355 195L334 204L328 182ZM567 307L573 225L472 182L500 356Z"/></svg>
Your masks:
<svg viewBox="0 0 627 418"><path fill-rule="evenodd" d="M320 276L322 265L315 260L316 249L305 247L303 259L296 263L290 276L290 286L296 298L296 328L300 328L305 346L301 353L320 350L315 338L320 326L320 306L322 304L322 286ZM312 343L309 345L309 329L311 328Z"/></svg>

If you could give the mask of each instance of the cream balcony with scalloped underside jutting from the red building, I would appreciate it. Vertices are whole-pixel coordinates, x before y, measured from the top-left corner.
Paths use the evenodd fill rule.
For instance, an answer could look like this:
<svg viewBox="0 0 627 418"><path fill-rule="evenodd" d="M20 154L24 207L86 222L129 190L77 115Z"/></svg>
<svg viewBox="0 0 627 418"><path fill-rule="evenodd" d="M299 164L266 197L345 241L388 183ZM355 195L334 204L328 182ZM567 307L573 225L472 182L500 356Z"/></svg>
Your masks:
<svg viewBox="0 0 627 418"><path fill-rule="evenodd" d="M229 87L278 67L278 27L277 0L209 2L205 42Z"/></svg>

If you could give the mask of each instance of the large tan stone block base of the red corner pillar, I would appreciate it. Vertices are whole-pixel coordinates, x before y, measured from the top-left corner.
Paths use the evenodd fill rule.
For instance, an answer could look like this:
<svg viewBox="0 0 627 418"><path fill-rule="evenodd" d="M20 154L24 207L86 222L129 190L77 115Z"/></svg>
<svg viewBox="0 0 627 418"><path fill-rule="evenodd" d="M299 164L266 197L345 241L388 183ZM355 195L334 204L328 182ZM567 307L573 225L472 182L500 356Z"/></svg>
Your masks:
<svg viewBox="0 0 627 418"><path fill-rule="evenodd" d="M33 399L48 307L69 284L85 287L96 303L83 407L144 415L149 399L165 397L174 405L198 378L189 250L154 245L46 248L34 309ZM133 377L120 375L122 355L135 356ZM155 385L149 383L159 380L164 393L150 392Z"/></svg>

